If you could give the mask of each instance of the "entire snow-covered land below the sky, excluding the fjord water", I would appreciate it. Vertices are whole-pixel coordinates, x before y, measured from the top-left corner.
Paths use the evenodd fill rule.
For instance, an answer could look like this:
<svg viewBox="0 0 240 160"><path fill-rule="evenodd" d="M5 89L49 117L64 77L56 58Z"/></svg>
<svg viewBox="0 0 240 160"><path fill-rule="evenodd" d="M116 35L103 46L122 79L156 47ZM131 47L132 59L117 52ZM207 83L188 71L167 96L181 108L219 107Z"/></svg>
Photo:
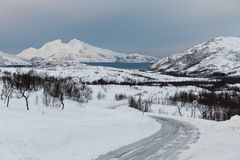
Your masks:
<svg viewBox="0 0 240 160"><path fill-rule="evenodd" d="M75 39L0 54L0 159L239 160L239 42L214 38L145 71L80 63L157 59Z"/></svg>

